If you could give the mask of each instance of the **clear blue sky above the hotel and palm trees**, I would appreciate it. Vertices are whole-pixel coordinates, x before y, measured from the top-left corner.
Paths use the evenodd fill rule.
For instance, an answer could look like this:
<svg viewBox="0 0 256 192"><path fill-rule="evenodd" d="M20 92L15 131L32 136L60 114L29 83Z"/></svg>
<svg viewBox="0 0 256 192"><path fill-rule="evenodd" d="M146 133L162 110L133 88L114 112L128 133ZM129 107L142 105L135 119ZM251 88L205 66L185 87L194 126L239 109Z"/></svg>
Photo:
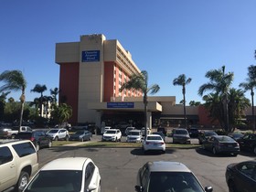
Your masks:
<svg viewBox="0 0 256 192"><path fill-rule="evenodd" d="M181 87L172 82L184 73L192 79L187 103L202 101L197 91L208 82L208 70L225 65L235 74L232 87L239 88L256 64L255 8L255 0L1 0L0 72L20 69L27 101L33 101L37 83L48 87L45 95L59 87L56 43L103 34L118 39L147 70L149 83L160 86L156 95L181 101Z"/></svg>

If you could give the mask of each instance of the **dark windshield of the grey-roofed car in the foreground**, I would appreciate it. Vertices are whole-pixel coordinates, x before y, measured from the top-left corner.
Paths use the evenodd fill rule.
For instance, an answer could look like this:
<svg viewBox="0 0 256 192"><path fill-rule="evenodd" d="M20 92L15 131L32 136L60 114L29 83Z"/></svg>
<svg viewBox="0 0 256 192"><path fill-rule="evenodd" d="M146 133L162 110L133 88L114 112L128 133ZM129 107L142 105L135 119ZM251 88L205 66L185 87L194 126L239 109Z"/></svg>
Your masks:
<svg viewBox="0 0 256 192"><path fill-rule="evenodd" d="M152 172L148 192L189 191L204 192L192 173L187 172Z"/></svg>

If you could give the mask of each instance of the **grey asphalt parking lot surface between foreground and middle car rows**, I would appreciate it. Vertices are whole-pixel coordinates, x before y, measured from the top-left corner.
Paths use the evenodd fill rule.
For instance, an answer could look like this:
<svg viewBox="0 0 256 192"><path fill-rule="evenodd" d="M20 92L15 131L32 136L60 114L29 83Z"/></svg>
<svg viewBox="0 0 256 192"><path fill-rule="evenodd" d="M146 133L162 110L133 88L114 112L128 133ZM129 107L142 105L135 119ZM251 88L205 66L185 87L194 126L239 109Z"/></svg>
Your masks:
<svg viewBox="0 0 256 192"><path fill-rule="evenodd" d="M101 139L100 135L93 140ZM168 138L169 139L169 138ZM125 138L123 137L123 141ZM196 140L193 140L196 142ZM225 181L226 166L245 160L255 160L255 155L241 153L234 157L229 155L212 155L201 148L168 148L165 155L151 153L144 155L141 148L87 148L84 146L59 146L39 150L39 164L66 156L90 157L101 172L101 189L104 192L134 191L138 169L147 161L176 161L190 168L201 184L212 186L214 191L227 192Z"/></svg>

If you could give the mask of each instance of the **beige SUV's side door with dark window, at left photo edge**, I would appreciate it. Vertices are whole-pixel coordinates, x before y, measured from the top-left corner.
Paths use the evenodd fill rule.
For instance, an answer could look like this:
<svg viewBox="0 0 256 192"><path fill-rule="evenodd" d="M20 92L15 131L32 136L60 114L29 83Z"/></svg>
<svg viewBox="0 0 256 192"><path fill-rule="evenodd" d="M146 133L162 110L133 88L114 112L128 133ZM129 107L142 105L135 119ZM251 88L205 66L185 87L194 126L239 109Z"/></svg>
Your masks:
<svg viewBox="0 0 256 192"><path fill-rule="evenodd" d="M7 146L0 147L0 173L0 191L16 183L16 162Z"/></svg>

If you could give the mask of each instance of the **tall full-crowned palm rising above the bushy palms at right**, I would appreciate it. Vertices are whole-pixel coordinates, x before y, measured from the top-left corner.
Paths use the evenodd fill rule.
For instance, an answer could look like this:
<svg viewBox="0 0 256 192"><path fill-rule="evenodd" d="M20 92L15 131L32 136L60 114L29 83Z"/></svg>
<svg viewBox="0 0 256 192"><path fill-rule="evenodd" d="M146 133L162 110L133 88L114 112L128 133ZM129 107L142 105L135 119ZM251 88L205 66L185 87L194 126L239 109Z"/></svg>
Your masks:
<svg viewBox="0 0 256 192"><path fill-rule="evenodd" d="M215 91L222 98L222 102L225 112L225 130L229 130L229 109L228 109L228 94L229 88L234 80L234 73L225 73L225 66L221 69L211 69L206 73L206 78L210 81L199 87L198 95L202 96L205 91Z"/></svg>

